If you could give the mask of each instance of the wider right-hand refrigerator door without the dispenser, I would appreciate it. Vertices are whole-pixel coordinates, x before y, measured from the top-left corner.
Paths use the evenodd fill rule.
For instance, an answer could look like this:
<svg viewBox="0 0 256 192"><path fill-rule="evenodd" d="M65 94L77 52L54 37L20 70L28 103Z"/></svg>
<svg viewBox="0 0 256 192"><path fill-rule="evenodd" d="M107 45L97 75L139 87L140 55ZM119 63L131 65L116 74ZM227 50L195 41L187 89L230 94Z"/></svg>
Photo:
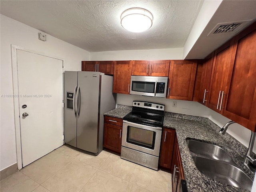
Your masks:
<svg viewBox="0 0 256 192"><path fill-rule="evenodd" d="M100 72L78 72L77 148L98 153Z"/></svg>

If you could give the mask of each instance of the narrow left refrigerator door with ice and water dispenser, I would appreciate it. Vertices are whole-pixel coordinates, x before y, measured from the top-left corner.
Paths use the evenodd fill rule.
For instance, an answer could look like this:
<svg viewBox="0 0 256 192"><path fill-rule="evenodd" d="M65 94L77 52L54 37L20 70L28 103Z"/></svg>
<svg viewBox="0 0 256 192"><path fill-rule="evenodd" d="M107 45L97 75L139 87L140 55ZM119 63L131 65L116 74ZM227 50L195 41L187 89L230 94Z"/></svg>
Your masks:
<svg viewBox="0 0 256 192"><path fill-rule="evenodd" d="M76 147L76 114L74 108L76 89L77 71L66 71L64 73L64 138L65 143L74 147Z"/></svg>

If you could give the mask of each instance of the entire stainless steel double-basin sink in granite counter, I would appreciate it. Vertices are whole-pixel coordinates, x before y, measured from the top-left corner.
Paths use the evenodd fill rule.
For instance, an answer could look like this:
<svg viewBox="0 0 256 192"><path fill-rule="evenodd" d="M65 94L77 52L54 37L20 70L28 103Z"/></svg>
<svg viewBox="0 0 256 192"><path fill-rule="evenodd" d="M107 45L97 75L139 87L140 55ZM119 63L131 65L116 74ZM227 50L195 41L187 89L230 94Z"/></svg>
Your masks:
<svg viewBox="0 0 256 192"><path fill-rule="evenodd" d="M192 139L186 141L196 167L202 174L234 187L251 190L252 180L236 167L224 149Z"/></svg>

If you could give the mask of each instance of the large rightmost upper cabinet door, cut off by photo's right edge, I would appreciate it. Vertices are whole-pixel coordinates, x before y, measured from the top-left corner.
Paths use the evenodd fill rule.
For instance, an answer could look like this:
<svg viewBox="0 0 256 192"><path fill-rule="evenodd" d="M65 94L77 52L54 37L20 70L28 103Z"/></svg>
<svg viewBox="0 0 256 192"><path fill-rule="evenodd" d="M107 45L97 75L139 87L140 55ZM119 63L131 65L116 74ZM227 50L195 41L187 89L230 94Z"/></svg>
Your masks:
<svg viewBox="0 0 256 192"><path fill-rule="evenodd" d="M224 116L256 131L256 24L236 36L227 82Z"/></svg>

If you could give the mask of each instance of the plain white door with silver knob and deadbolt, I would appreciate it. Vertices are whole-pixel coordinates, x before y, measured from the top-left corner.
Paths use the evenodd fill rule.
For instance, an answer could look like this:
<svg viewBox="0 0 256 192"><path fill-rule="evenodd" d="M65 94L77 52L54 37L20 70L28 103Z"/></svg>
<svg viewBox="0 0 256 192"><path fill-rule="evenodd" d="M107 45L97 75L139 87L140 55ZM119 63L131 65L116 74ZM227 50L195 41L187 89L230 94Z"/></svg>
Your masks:
<svg viewBox="0 0 256 192"><path fill-rule="evenodd" d="M62 65L17 50L22 167L63 144Z"/></svg>

